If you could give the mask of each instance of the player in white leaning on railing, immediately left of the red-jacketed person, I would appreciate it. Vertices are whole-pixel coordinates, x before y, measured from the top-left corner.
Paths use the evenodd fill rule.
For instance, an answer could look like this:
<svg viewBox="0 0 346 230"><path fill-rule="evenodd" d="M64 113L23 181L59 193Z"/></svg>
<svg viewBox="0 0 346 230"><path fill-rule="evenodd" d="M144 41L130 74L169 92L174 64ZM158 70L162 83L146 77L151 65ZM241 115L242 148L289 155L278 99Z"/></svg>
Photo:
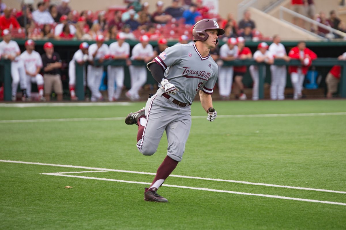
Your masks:
<svg viewBox="0 0 346 230"><path fill-rule="evenodd" d="M273 43L269 46L269 51L273 54L274 59L284 59L290 61L287 56L286 49L280 43L281 38L279 35L274 35ZM272 82L270 84L270 98L272 100L284 100L285 87L286 87L286 66L271 65L270 71L272 73Z"/></svg>

